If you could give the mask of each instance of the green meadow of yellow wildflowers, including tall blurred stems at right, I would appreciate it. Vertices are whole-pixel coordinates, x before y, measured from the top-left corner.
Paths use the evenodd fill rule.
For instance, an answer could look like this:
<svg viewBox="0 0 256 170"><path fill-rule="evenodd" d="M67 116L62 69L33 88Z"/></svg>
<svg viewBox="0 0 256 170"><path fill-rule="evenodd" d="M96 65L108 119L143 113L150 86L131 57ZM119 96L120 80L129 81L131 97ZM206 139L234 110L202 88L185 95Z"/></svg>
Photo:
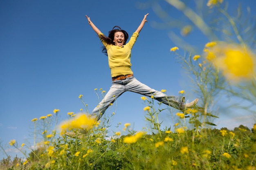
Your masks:
<svg viewBox="0 0 256 170"><path fill-rule="evenodd" d="M186 50L180 55L180 49L185 49L183 46L170 49L190 75L200 99L198 106L174 114L179 121L172 129L161 126L158 115L163 109L159 107L161 103L154 103L154 96L141 97L148 124L141 131L133 130L129 122L111 125L115 113L96 121L87 111L71 112L67 113L69 119L58 124L60 110L54 109L53 114L31 120L37 148L32 150L26 144L18 146L16 140L11 140L9 145L20 152L23 152L20 147L27 147L30 152L24 153L25 159L2 159L0 169L256 170L256 124L252 129L240 125L229 130L216 129L212 123L213 119L218 119L218 109L213 106L220 94L246 101L248 105L236 107L256 115L252 107L256 106L256 43L253 38L256 22L250 15L247 23L241 23L243 17L239 14L229 15L223 0L207 2L207 7L215 13L213 20L207 20L211 27L192 9L185 10L186 4L182 1L168 1L211 40L202 46L200 54ZM216 30L221 32L221 38L212 40L210 37ZM189 33L190 26L181 29L182 36ZM79 98L87 110L83 95ZM123 130L109 135L110 126L119 126ZM36 144L37 134L42 136L42 141Z"/></svg>

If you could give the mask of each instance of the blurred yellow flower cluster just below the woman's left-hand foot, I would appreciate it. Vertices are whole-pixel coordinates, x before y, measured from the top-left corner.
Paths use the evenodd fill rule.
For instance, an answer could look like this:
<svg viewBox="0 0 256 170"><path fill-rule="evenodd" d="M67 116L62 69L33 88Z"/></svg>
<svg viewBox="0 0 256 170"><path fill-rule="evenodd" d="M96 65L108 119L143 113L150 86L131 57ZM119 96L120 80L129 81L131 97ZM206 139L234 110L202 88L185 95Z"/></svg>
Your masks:
<svg viewBox="0 0 256 170"><path fill-rule="evenodd" d="M97 121L94 117L87 116L85 114L78 114L72 119L63 121L60 125L61 130L72 130L72 129L91 129Z"/></svg>

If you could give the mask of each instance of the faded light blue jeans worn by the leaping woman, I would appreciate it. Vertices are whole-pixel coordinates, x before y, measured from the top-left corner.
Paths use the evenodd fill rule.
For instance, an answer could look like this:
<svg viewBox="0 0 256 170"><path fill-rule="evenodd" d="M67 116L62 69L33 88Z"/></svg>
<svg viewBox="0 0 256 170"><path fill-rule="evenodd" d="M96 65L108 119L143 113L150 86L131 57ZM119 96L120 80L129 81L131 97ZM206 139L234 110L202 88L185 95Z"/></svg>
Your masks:
<svg viewBox="0 0 256 170"><path fill-rule="evenodd" d="M179 109L181 105L184 104L185 97L182 96L168 96L160 91L156 91L145 84L139 82L134 76L126 78L124 80L112 81L112 86L108 93L104 96L101 102L98 104L94 110L92 110L91 115L97 117L97 120L105 113L106 109L110 104L114 103L115 100L124 92L131 91L151 97L153 95L154 99L162 102L168 106Z"/></svg>

